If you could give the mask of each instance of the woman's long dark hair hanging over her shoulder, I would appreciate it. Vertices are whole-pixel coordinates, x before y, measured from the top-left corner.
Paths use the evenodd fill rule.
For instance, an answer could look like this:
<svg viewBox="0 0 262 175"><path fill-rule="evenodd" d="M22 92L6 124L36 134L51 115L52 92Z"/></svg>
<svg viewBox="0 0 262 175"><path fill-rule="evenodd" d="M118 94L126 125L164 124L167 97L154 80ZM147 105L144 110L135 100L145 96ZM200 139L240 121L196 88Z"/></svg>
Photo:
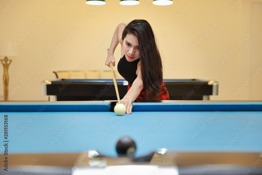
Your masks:
<svg viewBox="0 0 262 175"><path fill-rule="evenodd" d="M154 32L146 20L135 19L125 26L122 41L127 34L135 35L138 39L141 75L146 100L157 100L162 90L163 68Z"/></svg>

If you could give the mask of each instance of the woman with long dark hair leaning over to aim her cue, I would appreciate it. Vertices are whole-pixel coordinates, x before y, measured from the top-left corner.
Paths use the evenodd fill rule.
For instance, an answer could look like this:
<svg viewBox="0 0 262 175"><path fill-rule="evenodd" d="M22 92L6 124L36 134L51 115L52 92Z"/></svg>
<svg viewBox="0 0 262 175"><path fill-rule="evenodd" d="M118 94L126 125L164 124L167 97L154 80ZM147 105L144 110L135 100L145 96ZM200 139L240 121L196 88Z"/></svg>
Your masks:
<svg viewBox="0 0 262 175"><path fill-rule="evenodd" d="M114 51L121 44L118 72L128 81L128 92L121 99L131 114L135 100L169 100L163 83L162 61L155 36L146 20L133 20L127 26L121 23L114 33L105 65L115 66Z"/></svg>

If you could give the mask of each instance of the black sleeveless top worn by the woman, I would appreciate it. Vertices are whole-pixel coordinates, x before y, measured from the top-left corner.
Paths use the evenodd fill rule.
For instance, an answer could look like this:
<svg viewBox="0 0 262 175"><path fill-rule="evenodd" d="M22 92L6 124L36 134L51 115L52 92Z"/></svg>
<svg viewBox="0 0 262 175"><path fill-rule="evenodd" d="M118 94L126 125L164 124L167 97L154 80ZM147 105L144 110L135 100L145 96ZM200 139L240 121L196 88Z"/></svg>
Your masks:
<svg viewBox="0 0 262 175"><path fill-rule="evenodd" d="M139 62L139 59L129 62L125 58L125 55L123 58L121 58L117 64L117 70L119 74L126 80L128 83L132 86L134 80L137 78L137 63Z"/></svg>

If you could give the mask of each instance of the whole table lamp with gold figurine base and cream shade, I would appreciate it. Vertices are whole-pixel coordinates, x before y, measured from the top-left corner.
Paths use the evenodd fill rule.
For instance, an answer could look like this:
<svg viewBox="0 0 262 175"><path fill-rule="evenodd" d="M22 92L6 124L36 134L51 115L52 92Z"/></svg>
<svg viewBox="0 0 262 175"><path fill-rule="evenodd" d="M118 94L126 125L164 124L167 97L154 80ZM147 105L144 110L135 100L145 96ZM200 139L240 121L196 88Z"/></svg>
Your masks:
<svg viewBox="0 0 262 175"><path fill-rule="evenodd" d="M9 82L9 75L8 75L8 68L12 60L8 58L17 57L17 50L12 42L0 42L0 57L4 58L1 59L1 63L4 68L3 73L3 86L4 86L4 101L8 101L8 82Z"/></svg>

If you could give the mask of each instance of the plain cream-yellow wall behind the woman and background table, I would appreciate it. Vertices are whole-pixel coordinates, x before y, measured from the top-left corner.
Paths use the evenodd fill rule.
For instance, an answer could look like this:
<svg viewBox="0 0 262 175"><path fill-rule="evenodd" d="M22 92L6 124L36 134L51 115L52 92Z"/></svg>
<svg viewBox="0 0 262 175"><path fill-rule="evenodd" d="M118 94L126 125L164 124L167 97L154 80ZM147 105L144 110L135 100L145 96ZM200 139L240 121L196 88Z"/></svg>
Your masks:
<svg viewBox="0 0 262 175"><path fill-rule="evenodd" d="M54 79L52 71L110 70L104 65L105 48L116 26L133 19L148 20L158 36L165 78L216 80L219 95L211 100L262 99L262 73L258 71L252 81L248 79L262 66L261 0L173 0L170 6L155 6L152 0L140 0L136 6L122 6L118 0L106 2L91 6L85 0L0 1L0 40L18 43L18 38L26 36L16 45L18 57L9 68L9 92L17 89L10 101L48 100L41 95L40 82ZM232 8L234 2L236 7ZM179 17L181 10L184 14ZM212 31L207 35L206 30ZM237 43L246 34L251 36L239 48ZM71 38L65 39L66 35ZM199 39L203 40L189 52L188 47ZM59 43L62 46L48 58ZM222 63L234 47L235 53ZM114 56L118 62L120 46ZM175 69L169 71L173 66ZM3 67L0 69L2 75ZM29 79L25 82L23 78ZM245 82L243 91L234 96ZM2 81L0 88L3 100Z"/></svg>

